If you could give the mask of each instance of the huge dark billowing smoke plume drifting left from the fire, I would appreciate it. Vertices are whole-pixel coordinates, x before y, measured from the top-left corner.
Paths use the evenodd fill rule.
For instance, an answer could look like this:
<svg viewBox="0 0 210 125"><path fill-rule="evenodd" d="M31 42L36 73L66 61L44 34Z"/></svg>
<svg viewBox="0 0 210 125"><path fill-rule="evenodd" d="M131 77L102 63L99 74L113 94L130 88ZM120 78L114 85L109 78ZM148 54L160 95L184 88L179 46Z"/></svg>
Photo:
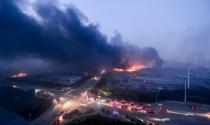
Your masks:
<svg viewBox="0 0 210 125"><path fill-rule="evenodd" d="M0 70L87 71L133 59L161 65L155 49L110 44L79 10L55 2L1 1Z"/></svg>

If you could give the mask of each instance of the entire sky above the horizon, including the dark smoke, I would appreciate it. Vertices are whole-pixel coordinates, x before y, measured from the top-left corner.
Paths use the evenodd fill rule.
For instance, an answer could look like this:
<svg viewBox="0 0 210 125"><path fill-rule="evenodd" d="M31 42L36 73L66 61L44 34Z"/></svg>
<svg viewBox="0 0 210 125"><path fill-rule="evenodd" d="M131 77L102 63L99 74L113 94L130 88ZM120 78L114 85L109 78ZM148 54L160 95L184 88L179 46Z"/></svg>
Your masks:
<svg viewBox="0 0 210 125"><path fill-rule="evenodd" d="M5 0L0 4L2 68L22 69L21 64L31 67L31 62L34 69L58 64L64 69L124 67L136 59L158 67L163 60L210 63L208 0ZM120 45L110 43L113 39Z"/></svg>

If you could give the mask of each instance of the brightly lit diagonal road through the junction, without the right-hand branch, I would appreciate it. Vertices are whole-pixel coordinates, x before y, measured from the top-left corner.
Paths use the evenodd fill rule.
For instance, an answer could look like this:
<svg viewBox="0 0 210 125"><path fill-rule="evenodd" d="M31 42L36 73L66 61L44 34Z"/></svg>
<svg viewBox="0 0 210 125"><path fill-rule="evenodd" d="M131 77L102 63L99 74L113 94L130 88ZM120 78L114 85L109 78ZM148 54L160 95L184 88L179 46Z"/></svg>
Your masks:
<svg viewBox="0 0 210 125"><path fill-rule="evenodd" d="M52 121L55 119L56 114L59 114L60 112L71 112L72 110L75 110L81 106L81 103L89 103L84 98L81 98L81 93L91 89L95 86L98 80L90 79L86 81L86 83L82 84L79 88L69 90L67 92L61 92L59 90L51 89L48 91L50 93L53 93L53 98L60 99L60 101L57 104L53 104L50 109L45 112L43 115L41 115L39 118L37 118L32 124L33 125L50 125Z"/></svg>

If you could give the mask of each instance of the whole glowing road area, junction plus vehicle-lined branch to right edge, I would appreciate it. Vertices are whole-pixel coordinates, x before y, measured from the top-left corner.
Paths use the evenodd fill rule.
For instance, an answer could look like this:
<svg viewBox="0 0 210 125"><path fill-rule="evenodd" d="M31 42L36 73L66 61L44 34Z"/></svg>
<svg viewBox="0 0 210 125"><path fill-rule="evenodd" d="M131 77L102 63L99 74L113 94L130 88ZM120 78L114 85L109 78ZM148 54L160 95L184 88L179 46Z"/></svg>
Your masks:
<svg viewBox="0 0 210 125"><path fill-rule="evenodd" d="M210 116L206 113L210 111L210 106L198 105L197 110L190 109L186 103L165 101L160 102L162 107L167 109L167 112L159 112L159 106L156 104L149 104L149 107L154 108L154 113L147 113L145 110L131 111L130 109L120 108L123 103L129 105L142 105L142 104L130 104L130 102L121 102L120 100L114 100L111 103L107 102L108 99L97 98L97 96L91 97L84 93L87 90L93 88L98 82L98 79L90 79L82 84L77 89L68 91L60 91L56 89L47 89L46 91L52 93L54 98L54 104L50 109L42 114L39 118L32 122L32 125L51 125L55 119L59 119L64 113L71 112L80 107L92 108L94 113L99 113L108 117L113 117L113 114L105 114L101 109L108 111L117 111L118 118L122 120L127 119L139 119L145 123L158 123L159 125L209 125ZM87 94L87 93L86 93ZM113 100L113 99L112 99ZM117 103L117 104L113 104ZM145 106L148 104L144 104ZM134 107L133 106L133 107ZM64 112L64 113L63 113ZM125 117L127 116L127 117ZM74 118L80 118L78 115ZM67 120L70 121L71 119ZM61 121L60 124L64 124L67 121Z"/></svg>

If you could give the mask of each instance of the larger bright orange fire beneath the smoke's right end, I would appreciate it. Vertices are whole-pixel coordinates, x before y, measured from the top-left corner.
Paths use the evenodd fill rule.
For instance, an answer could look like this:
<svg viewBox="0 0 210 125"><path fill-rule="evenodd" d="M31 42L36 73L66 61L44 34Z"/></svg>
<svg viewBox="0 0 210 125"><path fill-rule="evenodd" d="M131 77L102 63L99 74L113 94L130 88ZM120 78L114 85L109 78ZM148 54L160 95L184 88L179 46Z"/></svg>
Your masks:
<svg viewBox="0 0 210 125"><path fill-rule="evenodd" d="M143 64L133 64L128 68L114 68L113 71L115 72L136 72L142 68L144 68L145 66Z"/></svg>

